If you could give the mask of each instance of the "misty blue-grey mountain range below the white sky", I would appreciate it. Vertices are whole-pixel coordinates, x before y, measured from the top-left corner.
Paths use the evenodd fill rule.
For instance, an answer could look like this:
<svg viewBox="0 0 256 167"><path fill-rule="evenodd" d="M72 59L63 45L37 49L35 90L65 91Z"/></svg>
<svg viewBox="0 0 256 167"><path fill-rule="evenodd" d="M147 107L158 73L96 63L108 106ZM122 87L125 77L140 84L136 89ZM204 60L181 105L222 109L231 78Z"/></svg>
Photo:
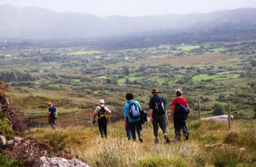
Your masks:
<svg viewBox="0 0 256 167"><path fill-rule="evenodd" d="M124 35L158 30L209 31L256 27L256 9L159 16L107 16L0 6L0 38L49 39Z"/></svg>

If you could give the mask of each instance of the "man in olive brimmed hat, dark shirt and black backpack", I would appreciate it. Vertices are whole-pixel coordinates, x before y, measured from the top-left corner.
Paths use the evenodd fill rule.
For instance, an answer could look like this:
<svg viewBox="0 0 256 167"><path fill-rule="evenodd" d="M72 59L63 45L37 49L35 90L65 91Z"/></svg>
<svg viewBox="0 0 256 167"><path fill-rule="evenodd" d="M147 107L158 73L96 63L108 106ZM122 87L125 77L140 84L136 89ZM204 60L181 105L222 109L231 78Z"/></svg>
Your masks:
<svg viewBox="0 0 256 167"><path fill-rule="evenodd" d="M151 91L153 97L149 101L149 117L153 124L155 144L159 143L158 140L158 124L164 133L165 142L168 144L169 139L167 136L167 128L165 123L165 110L166 103L165 99L158 95L159 91L157 88L154 88Z"/></svg>

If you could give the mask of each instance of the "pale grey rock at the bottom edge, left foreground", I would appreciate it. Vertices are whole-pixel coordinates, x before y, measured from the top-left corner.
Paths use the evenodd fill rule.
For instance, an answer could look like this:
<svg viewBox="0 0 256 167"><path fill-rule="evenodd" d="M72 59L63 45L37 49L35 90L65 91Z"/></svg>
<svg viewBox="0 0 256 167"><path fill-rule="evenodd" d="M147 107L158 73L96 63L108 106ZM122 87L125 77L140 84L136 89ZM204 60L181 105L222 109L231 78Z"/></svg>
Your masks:
<svg viewBox="0 0 256 167"><path fill-rule="evenodd" d="M81 161L77 161L74 159L67 160L64 158L56 157L56 158L47 158L40 157L34 163L33 167L89 167L86 163Z"/></svg>

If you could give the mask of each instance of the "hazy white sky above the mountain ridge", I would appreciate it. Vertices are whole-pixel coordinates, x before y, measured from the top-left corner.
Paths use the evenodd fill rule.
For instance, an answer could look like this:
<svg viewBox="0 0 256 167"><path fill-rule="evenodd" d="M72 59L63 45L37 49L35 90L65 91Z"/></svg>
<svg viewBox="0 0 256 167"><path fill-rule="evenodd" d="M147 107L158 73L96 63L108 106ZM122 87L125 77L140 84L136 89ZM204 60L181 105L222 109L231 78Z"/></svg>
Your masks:
<svg viewBox="0 0 256 167"><path fill-rule="evenodd" d="M97 16L144 16L167 13L209 13L236 8L256 8L256 0L0 0L0 5L37 6Z"/></svg>

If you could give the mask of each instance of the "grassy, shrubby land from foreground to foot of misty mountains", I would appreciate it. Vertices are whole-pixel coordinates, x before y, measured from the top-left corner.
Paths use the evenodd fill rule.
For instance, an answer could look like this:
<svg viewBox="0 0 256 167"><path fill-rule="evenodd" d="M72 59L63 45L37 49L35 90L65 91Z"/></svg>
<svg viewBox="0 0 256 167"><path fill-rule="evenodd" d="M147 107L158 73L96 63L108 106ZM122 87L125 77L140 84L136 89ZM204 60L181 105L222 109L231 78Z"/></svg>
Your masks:
<svg viewBox="0 0 256 167"><path fill-rule="evenodd" d="M8 42L0 51L0 80L10 85L13 105L33 118L31 129L20 135L46 139L53 147L52 156L77 158L90 166L256 165L255 41L122 50L31 43L17 47L21 43ZM6 54L12 58L4 59ZM173 142L171 122L170 144L164 144L162 133L160 144L154 144L151 122L148 128L143 125L142 144L126 141L120 122L125 94L133 92L135 100L148 111L154 87L166 99L168 113L175 90L182 89L191 111L188 141ZM89 113L93 114L100 99L113 111L106 140L100 138L97 124L92 132L89 127ZM59 115L60 128L56 130L47 124L49 101ZM230 101L232 129L227 123L197 120L198 101L202 117L225 114ZM74 113L78 128L74 127ZM7 123L1 124L1 131L8 139L14 134Z"/></svg>

